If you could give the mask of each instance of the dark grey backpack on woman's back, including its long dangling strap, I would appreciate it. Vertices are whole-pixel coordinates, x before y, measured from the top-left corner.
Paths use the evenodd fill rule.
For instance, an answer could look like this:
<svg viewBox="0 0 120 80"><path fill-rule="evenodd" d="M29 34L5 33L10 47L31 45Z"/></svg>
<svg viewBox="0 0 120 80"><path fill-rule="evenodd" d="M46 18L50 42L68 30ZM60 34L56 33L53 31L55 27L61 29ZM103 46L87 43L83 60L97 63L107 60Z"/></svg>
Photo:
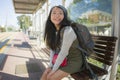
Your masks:
<svg viewBox="0 0 120 80"><path fill-rule="evenodd" d="M90 56L91 53L93 53L94 48L94 41L92 40L92 36L88 28L78 23L72 23L71 27L73 28L74 32L77 35L77 39L79 41L78 48L82 51L84 61L82 68L88 69L90 72L90 77L92 79L98 80L97 75L93 72L86 59L87 57Z"/></svg>

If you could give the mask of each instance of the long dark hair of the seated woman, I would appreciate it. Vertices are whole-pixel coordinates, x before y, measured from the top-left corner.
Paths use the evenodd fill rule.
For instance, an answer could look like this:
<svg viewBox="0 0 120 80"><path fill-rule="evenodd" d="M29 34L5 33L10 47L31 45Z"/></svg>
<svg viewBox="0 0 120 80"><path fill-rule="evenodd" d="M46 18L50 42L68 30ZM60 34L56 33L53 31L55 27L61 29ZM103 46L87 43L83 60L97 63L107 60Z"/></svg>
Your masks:
<svg viewBox="0 0 120 80"><path fill-rule="evenodd" d="M55 25L51 22L51 12L53 10L53 8L60 8L63 10L64 13L64 19L61 21L60 23L60 29L58 31L58 34L56 36L56 28ZM46 42L46 45L52 49L52 50L56 50L57 47L60 46L60 31L63 27L66 26L70 26L71 21L69 20L68 16L67 16L67 10L59 5L59 6L54 6L53 8L51 8L48 19L46 21L45 24L45 33L44 33L44 41Z"/></svg>

